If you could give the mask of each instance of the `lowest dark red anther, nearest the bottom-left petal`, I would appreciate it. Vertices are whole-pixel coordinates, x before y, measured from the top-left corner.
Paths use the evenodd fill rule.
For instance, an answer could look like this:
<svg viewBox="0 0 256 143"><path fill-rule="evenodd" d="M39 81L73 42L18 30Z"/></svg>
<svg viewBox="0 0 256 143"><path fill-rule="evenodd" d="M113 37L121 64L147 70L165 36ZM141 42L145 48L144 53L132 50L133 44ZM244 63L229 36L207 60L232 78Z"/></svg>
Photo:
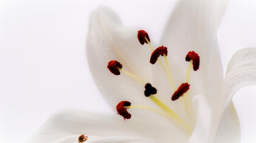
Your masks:
<svg viewBox="0 0 256 143"><path fill-rule="evenodd" d="M117 114L121 115L123 119L130 119L132 115L128 113L127 108L124 108L124 106L131 106L131 102L129 101L121 101L117 104L116 110Z"/></svg>

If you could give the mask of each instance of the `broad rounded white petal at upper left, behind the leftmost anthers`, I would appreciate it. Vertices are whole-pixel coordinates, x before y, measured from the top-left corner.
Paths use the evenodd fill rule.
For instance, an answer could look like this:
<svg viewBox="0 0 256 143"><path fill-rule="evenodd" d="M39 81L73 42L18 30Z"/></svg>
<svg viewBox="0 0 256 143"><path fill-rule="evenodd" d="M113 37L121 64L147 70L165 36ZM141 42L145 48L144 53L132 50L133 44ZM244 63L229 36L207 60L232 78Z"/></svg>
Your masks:
<svg viewBox="0 0 256 143"><path fill-rule="evenodd" d="M99 6L90 15L86 42L88 64L99 91L113 110L122 100L132 105L155 106L144 96L145 85L123 73L115 76L107 68L110 60L117 60L122 69L152 83L151 50L139 43L138 30L123 25L117 13L105 6ZM143 117L148 119L146 115Z"/></svg>

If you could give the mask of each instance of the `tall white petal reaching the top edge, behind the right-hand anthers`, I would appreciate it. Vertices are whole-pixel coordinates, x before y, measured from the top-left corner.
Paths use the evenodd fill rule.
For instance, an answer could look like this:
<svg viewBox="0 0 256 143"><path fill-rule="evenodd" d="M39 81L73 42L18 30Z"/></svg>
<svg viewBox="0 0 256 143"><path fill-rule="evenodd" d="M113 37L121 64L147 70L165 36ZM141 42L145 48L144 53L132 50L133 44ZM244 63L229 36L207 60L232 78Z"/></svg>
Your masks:
<svg viewBox="0 0 256 143"><path fill-rule="evenodd" d="M201 94L212 109L211 133L215 134L222 111L221 83L223 73L220 62L217 32L219 24L228 6L228 1L179 0L166 23L159 44L168 47L168 62L174 83L178 87L185 81L189 63L185 56L195 51L200 56L199 71L190 74L190 95ZM171 102L173 91L167 78L160 75L161 68L154 68L154 84L159 92L170 100L171 107L180 114L177 102Z"/></svg>

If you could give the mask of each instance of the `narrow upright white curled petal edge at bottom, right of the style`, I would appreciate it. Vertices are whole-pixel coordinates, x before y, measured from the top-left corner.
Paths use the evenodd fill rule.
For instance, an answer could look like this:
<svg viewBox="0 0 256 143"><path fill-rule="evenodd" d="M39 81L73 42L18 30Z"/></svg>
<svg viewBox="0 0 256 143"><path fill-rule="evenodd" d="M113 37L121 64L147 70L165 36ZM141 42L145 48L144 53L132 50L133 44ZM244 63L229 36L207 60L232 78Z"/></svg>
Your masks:
<svg viewBox="0 0 256 143"><path fill-rule="evenodd" d="M203 95L194 96L194 106L197 109L197 121L188 143L208 143L211 128L210 106Z"/></svg>

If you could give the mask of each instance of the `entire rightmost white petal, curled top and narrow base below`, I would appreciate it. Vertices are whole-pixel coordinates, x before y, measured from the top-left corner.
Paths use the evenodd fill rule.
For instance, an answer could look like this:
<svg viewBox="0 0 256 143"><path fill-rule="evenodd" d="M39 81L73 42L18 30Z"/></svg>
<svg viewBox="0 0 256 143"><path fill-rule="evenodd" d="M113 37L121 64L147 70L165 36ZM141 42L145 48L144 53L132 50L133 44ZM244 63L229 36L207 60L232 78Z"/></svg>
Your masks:
<svg viewBox="0 0 256 143"><path fill-rule="evenodd" d="M256 48L243 48L232 56L227 66L223 82L224 111L216 143L240 143L240 123L231 101L239 88L253 84L256 84Z"/></svg>

